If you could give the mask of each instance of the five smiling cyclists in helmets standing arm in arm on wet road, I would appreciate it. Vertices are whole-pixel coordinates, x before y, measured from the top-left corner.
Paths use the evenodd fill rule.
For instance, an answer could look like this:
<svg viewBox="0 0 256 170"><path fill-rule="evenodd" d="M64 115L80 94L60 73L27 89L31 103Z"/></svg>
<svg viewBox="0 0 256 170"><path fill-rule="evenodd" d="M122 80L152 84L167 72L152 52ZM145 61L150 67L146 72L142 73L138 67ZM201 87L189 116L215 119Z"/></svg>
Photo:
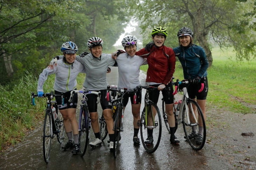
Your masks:
<svg viewBox="0 0 256 170"><path fill-rule="evenodd" d="M134 145L140 145L138 137L141 106L141 90L137 91L136 103L134 103L134 88L140 86L139 74L140 66L148 64L146 83L150 86L157 87L150 93L151 101L157 103L160 91L166 103L166 112L170 126L170 143L177 145L180 141L175 136L175 117L173 113L173 93L168 93L167 87L172 87L171 78L175 72L175 56L181 62L183 67L184 79L193 80L193 84L188 87L189 97L196 100L200 105L204 119L206 119L205 105L208 93L207 68L209 62L206 53L202 47L193 44L193 31L190 28L183 27L178 30L178 40L180 46L172 49L164 45L168 32L163 27L156 27L151 32L152 42L148 43L143 49L136 51L137 39L134 36L126 36L122 40L124 51L118 50L113 54L102 53L103 40L99 37L91 37L87 46L90 53L82 53L76 56L78 47L73 42L62 44L61 52L63 56L57 56L51 61L52 65L43 70L38 80L38 96L43 95L43 83L49 74L56 74L54 82L55 94L64 93L64 105L61 97L56 97L59 110L64 119L65 131L68 136L68 142L63 149L73 149L72 153L79 153L78 146L78 122L75 112L78 103L78 96L75 94L71 102L68 102L70 91L76 89L76 77L79 73L86 73L83 83L85 90L101 92L101 107L107 123L109 134L109 149L114 146L114 131L112 118L111 97L107 101L107 79L106 74L109 72L109 66L117 66L119 71L117 88L127 88L129 93L123 96L124 109L129 101L132 104L133 125L134 125ZM56 61L58 59L58 61ZM55 62L55 63L54 63ZM197 89L201 88L201 80L204 80L204 90L198 93ZM173 90L173 88L171 88ZM89 142L90 146L101 145L100 126L97 113L97 96L94 94L87 95L88 110L92 122L92 128L95 139ZM153 143L153 129L148 129L148 138L145 141L148 145ZM189 138L196 138L196 142L202 142L202 129L196 132L192 127Z"/></svg>

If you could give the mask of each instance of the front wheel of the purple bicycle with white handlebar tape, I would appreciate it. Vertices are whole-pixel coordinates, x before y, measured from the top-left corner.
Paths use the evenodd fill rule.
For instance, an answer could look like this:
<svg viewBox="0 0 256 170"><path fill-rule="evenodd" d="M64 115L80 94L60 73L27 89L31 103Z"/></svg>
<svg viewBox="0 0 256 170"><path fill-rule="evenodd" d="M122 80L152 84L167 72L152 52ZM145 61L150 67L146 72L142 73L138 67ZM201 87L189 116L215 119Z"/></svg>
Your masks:
<svg viewBox="0 0 256 170"><path fill-rule="evenodd" d="M89 112L86 106L81 108L79 126L79 154L83 156L89 141Z"/></svg>

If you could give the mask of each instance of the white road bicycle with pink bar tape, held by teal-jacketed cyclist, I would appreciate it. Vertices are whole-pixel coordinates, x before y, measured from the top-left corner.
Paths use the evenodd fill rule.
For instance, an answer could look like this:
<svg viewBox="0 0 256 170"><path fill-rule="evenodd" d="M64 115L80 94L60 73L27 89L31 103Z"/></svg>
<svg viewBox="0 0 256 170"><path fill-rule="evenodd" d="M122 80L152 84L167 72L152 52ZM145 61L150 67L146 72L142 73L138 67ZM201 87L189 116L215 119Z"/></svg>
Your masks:
<svg viewBox="0 0 256 170"><path fill-rule="evenodd" d="M178 79L174 83L175 92L174 95L177 93L177 89L180 92L183 92L182 99L178 102L174 101L174 115L177 120L177 124L183 125L183 130L185 133L184 138L189 143L189 145L194 150L201 150L204 146L206 141L206 124L203 117L203 112L200 106L197 104L196 101L188 97L187 87L191 84L191 80L182 80L179 81ZM200 93L204 88L204 82L201 82L201 89L198 90ZM193 131L196 133L199 132L199 126L203 129L202 134L202 142L196 142L197 135L190 135ZM193 129L193 130L192 130Z"/></svg>

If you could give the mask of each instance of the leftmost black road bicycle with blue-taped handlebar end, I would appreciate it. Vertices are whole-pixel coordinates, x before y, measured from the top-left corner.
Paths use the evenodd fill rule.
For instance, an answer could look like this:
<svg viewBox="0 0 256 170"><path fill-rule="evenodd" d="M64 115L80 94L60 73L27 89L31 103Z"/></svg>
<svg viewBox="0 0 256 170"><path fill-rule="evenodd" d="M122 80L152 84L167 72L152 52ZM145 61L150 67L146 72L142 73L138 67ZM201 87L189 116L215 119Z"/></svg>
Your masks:
<svg viewBox="0 0 256 170"><path fill-rule="evenodd" d="M43 122L43 158L46 163L49 162L50 156L50 145L51 140L57 136L57 140L59 143L62 143L65 138L65 130L64 130L64 121L60 112L58 111L58 106L56 101L53 101L54 98L53 91L50 93L43 94L42 97L47 98L47 105L45 111L45 120ZM58 95L59 96L59 95ZM62 96L62 95L61 95ZM35 97L38 95L31 93L31 104L35 105Z"/></svg>

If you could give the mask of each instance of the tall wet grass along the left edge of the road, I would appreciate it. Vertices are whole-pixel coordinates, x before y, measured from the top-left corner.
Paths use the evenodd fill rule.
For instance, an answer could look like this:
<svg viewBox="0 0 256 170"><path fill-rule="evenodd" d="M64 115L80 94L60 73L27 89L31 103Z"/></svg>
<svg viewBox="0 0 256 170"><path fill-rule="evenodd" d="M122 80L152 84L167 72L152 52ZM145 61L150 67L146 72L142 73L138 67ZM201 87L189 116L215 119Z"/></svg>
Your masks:
<svg viewBox="0 0 256 170"><path fill-rule="evenodd" d="M45 92L53 91L55 75L48 76L44 83ZM85 74L80 73L77 81L82 87ZM12 90L0 85L0 150L21 141L28 130L33 130L43 121L46 98L35 98L31 105L31 92L37 93L38 78L27 72Z"/></svg>

